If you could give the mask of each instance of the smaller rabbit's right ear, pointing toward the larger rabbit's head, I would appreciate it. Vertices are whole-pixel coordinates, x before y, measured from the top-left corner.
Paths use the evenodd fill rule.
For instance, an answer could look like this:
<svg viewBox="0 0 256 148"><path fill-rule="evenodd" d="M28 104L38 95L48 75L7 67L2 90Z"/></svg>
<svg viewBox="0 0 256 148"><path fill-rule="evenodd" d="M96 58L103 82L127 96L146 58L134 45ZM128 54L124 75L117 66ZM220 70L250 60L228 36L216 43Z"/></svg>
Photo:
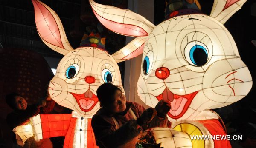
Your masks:
<svg viewBox="0 0 256 148"><path fill-rule="evenodd" d="M143 53L145 41L146 39L137 37L111 56L116 60L116 63L137 57Z"/></svg>

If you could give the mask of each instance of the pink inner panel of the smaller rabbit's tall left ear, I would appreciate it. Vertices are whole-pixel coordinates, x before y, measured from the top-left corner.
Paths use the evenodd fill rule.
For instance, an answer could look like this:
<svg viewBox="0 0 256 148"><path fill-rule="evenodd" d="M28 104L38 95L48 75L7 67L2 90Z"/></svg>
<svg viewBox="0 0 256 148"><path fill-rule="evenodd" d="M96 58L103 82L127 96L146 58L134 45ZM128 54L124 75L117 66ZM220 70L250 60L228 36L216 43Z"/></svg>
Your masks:
<svg viewBox="0 0 256 148"><path fill-rule="evenodd" d="M38 33L48 43L64 48L58 25L51 12L36 0L32 0L35 8L35 24Z"/></svg>

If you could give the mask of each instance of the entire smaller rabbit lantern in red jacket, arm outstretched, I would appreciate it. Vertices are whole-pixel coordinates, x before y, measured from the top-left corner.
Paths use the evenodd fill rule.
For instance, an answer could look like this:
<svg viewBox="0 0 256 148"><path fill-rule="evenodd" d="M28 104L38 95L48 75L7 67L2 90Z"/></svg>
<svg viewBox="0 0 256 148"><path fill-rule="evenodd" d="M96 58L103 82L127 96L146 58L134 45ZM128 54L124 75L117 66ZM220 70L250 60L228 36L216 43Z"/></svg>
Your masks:
<svg viewBox="0 0 256 148"><path fill-rule="evenodd" d="M39 140L65 136L65 148L96 147L91 128L91 117L99 109L96 90L109 82L122 88L117 62L142 54L145 39L135 38L112 56L96 43L73 49L58 15L39 0L32 2L39 36L49 48L64 55L50 81L49 93L59 105L73 110L72 115L39 114L32 117L35 137Z"/></svg>

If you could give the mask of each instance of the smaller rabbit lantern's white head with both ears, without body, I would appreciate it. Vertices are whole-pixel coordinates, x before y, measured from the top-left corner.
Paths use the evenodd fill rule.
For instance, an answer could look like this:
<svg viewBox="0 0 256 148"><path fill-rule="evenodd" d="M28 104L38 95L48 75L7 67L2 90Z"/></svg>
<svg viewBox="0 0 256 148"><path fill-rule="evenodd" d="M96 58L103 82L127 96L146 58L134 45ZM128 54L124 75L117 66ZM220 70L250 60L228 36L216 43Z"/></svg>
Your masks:
<svg viewBox="0 0 256 148"><path fill-rule="evenodd" d="M145 39L135 38L113 54L105 49L70 46L58 15L39 0L32 0L39 36L47 46L64 55L51 80L49 93L58 104L77 111L82 117L92 117L99 109L96 90L109 81L122 88L116 62L142 54ZM106 79L109 74L111 80ZM123 90L123 88L122 88Z"/></svg>

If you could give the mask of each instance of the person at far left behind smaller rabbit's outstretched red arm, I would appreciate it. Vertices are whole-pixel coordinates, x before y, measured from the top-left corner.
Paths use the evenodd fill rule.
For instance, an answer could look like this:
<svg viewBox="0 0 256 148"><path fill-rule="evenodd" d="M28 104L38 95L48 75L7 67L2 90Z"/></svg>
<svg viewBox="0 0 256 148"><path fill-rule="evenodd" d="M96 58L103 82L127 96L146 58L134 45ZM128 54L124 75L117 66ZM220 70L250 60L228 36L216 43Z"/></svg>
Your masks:
<svg viewBox="0 0 256 148"><path fill-rule="evenodd" d="M39 100L38 103L33 105L28 105L24 97L15 92L6 95L6 103L9 105L14 111L9 113L6 117L7 124L14 129L20 125L27 125L30 123L30 117L34 117L38 114L47 114L50 113L55 105L55 101L49 96L49 92L47 92L47 96L43 100ZM15 140L16 141L16 140ZM39 142L35 142L34 137L31 137L26 140L23 148L43 148L48 147L52 148L52 142L50 139L40 140Z"/></svg>

